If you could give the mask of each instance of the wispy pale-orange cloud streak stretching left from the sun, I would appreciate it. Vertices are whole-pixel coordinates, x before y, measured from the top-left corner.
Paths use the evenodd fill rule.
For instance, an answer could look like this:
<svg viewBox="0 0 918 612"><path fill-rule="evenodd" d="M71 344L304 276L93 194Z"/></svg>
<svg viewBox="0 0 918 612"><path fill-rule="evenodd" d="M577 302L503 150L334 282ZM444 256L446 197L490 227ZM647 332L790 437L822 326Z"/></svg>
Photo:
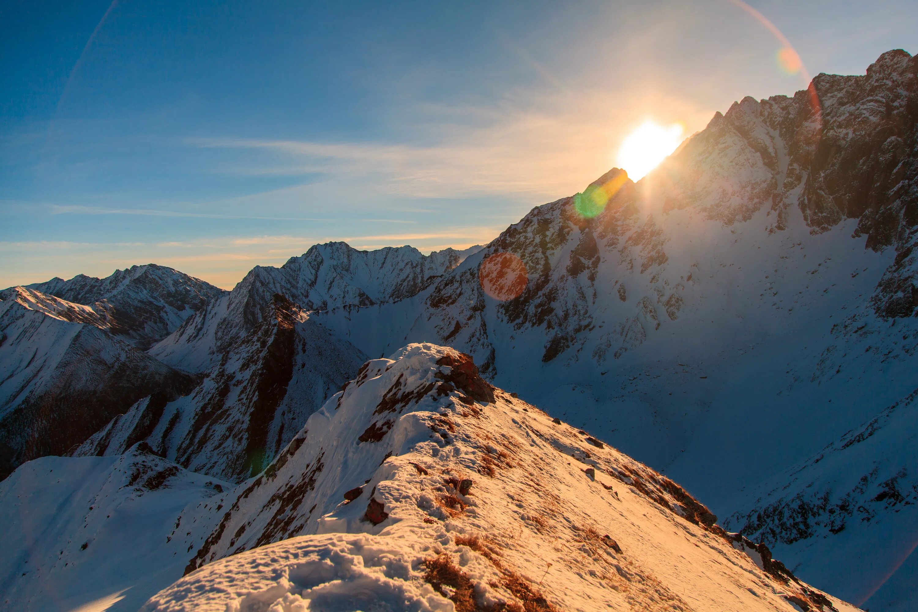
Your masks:
<svg viewBox="0 0 918 612"><path fill-rule="evenodd" d="M431 109L428 109L431 110ZM193 147L247 151L252 174L321 173L321 185L412 198L474 196L555 199L583 189L613 165L617 143L647 117L681 122L689 133L704 126L713 111L648 89L627 100L599 88L542 95L528 104L441 108L443 117L417 143L332 142L290 139L188 139ZM442 118L442 117L441 117ZM298 188L297 188L298 189Z"/></svg>

